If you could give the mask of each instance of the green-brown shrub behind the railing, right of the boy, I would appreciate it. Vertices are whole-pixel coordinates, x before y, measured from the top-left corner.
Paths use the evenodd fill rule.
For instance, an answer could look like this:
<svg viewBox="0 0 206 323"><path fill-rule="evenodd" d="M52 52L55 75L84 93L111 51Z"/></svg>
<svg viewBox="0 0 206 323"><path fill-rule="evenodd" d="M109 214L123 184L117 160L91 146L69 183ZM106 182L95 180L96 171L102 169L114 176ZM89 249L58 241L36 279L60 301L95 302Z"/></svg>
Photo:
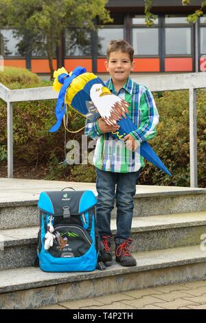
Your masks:
<svg viewBox="0 0 206 323"><path fill-rule="evenodd" d="M160 114L157 136L150 140L150 145L172 177L147 162L147 167L139 178L139 183L170 186L190 186L190 124L188 91L162 92L160 98L155 93L155 102ZM205 113L206 91L197 91L197 132L198 132L198 186L206 184L205 161Z"/></svg>

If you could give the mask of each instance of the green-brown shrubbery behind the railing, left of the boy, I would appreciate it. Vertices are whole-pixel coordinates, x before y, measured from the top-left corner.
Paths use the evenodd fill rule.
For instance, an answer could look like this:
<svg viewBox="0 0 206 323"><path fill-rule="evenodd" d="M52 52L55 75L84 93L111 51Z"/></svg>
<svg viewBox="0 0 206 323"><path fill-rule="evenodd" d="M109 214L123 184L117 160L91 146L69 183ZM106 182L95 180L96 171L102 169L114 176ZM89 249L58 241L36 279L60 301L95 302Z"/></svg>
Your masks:
<svg viewBox="0 0 206 323"><path fill-rule="evenodd" d="M41 81L38 76L26 69L5 68L0 73L0 82L12 89L25 87L41 87L52 85L52 82ZM56 100L16 102L13 104L14 129L14 169L16 164L37 166L47 164L50 172L52 167L62 170L56 165L65 159L65 131L63 127L58 132L49 133L49 128L56 122L54 109ZM5 160L7 146L7 110L6 103L0 100L0 160ZM84 125L84 118L71 111L69 113L70 129L78 129ZM73 135L67 134L67 140ZM80 135L75 136L79 138ZM54 162L55 159L55 162ZM55 166L54 166L55 165ZM65 175L65 169L62 172ZM49 176L49 175L48 175ZM55 179L52 176L52 179Z"/></svg>

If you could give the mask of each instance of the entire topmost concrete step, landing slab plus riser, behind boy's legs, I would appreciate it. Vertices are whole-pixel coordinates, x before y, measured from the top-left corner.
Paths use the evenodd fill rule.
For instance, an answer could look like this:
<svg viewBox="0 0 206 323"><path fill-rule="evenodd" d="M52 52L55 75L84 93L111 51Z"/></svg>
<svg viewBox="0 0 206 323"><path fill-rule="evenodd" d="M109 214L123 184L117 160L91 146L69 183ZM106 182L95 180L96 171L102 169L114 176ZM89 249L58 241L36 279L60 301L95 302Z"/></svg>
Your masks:
<svg viewBox="0 0 206 323"><path fill-rule="evenodd" d="M2 184L2 186L1 186ZM0 179L0 230L38 225L38 197L43 190L95 190L95 183ZM134 216L155 216L206 211L206 189L172 186L139 186ZM112 212L115 218L116 209Z"/></svg>

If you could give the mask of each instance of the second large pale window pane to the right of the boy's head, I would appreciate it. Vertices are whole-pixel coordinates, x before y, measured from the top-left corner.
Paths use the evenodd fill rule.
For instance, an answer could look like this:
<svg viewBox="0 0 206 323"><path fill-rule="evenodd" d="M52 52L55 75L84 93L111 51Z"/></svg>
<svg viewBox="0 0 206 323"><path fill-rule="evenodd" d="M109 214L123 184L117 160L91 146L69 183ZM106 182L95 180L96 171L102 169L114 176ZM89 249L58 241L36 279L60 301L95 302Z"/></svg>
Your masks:
<svg viewBox="0 0 206 323"><path fill-rule="evenodd" d="M165 54L192 54L191 28L165 28Z"/></svg>

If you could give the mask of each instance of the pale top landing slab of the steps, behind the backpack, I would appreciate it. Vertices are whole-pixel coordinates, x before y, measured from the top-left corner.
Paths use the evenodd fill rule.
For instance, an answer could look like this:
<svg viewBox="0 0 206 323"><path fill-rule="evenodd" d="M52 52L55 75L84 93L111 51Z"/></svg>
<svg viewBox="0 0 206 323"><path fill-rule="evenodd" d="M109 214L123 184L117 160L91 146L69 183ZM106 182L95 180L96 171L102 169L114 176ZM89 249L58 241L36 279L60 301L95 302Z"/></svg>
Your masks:
<svg viewBox="0 0 206 323"><path fill-rule="evenodd" d="M66 187L72 187L76 190L93 190L95 196L97 196L95 183L0 178L0 208L19 205L36 205L39 194L43 190L62 190L62 188ZM205 194L206 199L205 188L144 185L137 185L135 198L176 197L190 194Z"/></svg>

